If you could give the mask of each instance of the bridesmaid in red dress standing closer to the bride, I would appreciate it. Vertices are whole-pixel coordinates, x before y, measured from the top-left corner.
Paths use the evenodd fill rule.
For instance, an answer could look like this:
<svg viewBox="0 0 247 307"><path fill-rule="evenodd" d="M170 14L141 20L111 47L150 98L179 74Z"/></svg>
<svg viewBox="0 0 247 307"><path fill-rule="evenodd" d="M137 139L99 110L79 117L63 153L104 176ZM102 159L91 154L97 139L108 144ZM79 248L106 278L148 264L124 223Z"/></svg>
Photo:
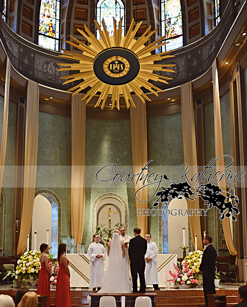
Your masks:
<svg viewBox="0 0 247 307"><path fill-rule="evenodd" d="M60 243L57 253L59 271L56 286L56 307L71 307L69 286L70 272L68 269L69 261L64 254L66 254L66 244Z"/></svg>

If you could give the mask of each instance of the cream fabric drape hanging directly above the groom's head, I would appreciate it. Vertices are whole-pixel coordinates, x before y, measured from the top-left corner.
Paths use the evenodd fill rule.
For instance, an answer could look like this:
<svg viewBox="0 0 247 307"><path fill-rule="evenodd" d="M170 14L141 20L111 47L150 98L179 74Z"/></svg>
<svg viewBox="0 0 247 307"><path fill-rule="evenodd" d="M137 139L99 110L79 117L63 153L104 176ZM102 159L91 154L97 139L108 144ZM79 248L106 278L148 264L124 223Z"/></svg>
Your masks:
<svg viewBox="0 0 247 307"><path fill-rule="evenodd" d="M133 100L136 108L130 106L130 125L131 125L131 144L132 144L132 159L133 159L133 173L137 174L142 171L148 163L148 139L147 139L147 114L146 114L146 104L142 102L137 96L133 96ZM148 174L146 170L144 175ZM136 184L138 176L134 178L134 185ZM135 191L142 187L142 182L138 181L135 187ZM148 199L148 187L144 187L137 193L137 198L139 200ZM140 216L137 215L138 209L145 209L147 212L148 201L141 202L135 199L136 207L136 216L137 216L137 225L142 232L140 233L145 237L148 232L148 217L143 216L143 213Z"/></svg>

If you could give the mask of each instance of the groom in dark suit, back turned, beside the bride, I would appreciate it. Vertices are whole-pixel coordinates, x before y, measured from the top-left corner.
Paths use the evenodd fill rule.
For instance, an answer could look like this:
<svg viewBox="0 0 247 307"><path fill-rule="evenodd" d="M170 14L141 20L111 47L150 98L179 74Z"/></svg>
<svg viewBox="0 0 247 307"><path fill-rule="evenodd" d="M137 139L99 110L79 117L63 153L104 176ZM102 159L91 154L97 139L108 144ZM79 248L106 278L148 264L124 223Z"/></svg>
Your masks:
<svg viewBox="0 0 247 307"><path fill-rule="evenodd" d="M134 238L129 241L130 271L133 283L133 293L137 293L137 273L140 280L140 293L146 292L145 283L145 254L147 252L147 240L140 236L140 228L134 228Z"/></svg>

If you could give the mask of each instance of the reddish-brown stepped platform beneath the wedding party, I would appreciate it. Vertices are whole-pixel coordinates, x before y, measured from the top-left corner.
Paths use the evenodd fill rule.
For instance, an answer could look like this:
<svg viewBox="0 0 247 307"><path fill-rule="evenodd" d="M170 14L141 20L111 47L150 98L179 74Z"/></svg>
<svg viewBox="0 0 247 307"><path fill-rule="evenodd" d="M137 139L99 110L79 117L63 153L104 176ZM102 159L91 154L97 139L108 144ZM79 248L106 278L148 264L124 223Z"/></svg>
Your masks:
<svg viewBox="0 0 247 307"><path fill-rule="evenodd" d="M216 290L217 294L227 295L227 307L237 303L238 286L221 286ZM11 285L0 286L0 294L15 296L17 290ZM72 307L90 306L87 296L97 291L85 289L70 289ZM51 290L51 307L55 307L55 290ZM203 289L161 289L158 291L147 291L157 293L156 307L205 307Z"/></svg>

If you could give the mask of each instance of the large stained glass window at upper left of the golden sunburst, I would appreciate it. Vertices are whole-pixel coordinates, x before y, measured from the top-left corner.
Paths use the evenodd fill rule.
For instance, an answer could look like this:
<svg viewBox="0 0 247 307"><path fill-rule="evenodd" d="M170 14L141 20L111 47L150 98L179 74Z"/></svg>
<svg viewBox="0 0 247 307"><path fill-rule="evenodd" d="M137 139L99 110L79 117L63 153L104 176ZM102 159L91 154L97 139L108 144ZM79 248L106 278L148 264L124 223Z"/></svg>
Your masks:
<svg viewBox="0 0 247 307"><path fill-rule="evenodd" d="M60 0L41 0L39 46L59 50Z"/></svg>

